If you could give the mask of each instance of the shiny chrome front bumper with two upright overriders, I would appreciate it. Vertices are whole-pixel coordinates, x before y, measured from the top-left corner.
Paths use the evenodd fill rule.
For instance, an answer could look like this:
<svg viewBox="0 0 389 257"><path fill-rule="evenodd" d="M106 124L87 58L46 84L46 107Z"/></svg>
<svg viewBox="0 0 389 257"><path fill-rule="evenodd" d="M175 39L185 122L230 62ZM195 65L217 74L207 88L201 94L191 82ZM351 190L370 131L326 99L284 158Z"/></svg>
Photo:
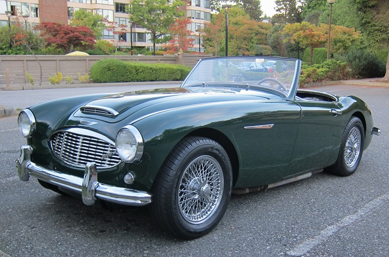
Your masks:
<svg viewBox="0 0 389 257"><path fill-rule="evenodd" d="M16 160L16 167L22 181L28 181L30 176L33 176L60 188L77 192L81 194L85 205L93 205L97 199L132 206L143 206L152 202L152 195L148 192L99 183L94 162L85 165L84 177L79 178L36 165L31 162L31 153L31 146L20 147L20 157Z"/></svg>

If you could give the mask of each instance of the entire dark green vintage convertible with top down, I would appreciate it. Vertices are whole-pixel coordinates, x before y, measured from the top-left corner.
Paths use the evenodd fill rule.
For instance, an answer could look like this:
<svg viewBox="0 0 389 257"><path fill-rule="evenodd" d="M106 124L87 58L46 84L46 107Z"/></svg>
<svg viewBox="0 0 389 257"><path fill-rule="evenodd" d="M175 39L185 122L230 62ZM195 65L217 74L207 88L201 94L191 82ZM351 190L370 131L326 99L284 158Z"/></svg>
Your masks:
<svg viewBox="0 0 389 257"><path fill-rule="evenodd" d="M272 72L243 63L275 63ZM157 224L183 239L222 219L244 194L328 170L349 176L373 135L358 97L298 89L300 60L200 60L181 87L94 94L22 111L27 138L19 178L35 177L86 205L149 205Z"/></svg>

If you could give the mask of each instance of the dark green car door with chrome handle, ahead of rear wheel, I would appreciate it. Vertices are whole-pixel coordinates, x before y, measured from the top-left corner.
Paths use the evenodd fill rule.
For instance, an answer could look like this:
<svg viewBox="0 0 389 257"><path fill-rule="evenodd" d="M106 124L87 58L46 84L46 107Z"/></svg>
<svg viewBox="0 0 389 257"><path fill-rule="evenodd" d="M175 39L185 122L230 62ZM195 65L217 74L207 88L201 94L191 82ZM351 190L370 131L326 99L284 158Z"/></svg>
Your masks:
<svg viewBox="0 0 389 257"><path fill-rule="evenodd" d="M341 136L341 110L336 101L298 101L301 121L285 179L323 168Z"/></svg>

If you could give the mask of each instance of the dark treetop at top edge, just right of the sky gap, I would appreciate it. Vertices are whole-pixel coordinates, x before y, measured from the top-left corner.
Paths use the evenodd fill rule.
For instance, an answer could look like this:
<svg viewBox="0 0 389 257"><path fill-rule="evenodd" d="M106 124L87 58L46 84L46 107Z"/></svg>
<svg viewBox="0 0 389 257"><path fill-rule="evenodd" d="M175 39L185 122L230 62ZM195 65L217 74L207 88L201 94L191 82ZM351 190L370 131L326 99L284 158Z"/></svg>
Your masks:
<svg viewBox="0 0 389 257"><path fill-rule="evenodd" d="M276 14L272 20L277 24L301 22L301 10L297 8L296 0L275 0Z"/></svg>

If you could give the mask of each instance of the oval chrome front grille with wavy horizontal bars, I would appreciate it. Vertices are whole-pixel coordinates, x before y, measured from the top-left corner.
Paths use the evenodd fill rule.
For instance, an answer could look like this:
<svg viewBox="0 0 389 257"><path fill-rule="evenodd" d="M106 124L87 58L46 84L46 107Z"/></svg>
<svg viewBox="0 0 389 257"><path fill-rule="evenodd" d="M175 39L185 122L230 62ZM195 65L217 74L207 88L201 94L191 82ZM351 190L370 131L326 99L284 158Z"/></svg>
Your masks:
<svg viewBox="0 0 389 257"><path fill-rule="evenodd" d="M83 132L85 130L78 130ZM95 162L98 168L109 168L120 163L112 143L94 136L82 135L69 131L60 131L51 138L51 147L55 155L63 162L84 167L88 162Z"/></svg>

